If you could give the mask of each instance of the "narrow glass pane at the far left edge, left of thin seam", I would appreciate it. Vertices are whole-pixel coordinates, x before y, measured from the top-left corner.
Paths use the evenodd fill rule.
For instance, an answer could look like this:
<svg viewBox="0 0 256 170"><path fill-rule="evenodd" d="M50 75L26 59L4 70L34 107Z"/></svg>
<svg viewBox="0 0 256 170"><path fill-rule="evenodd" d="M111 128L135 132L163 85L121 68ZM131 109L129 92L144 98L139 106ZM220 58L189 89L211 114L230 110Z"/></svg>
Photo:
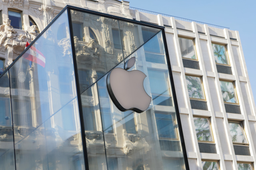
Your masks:
<svg viewBox="0 0 256 170"><path fill-rule="evenodd" d="M0 78L0 169L14 170L12 114L8 72Z"/></svg>

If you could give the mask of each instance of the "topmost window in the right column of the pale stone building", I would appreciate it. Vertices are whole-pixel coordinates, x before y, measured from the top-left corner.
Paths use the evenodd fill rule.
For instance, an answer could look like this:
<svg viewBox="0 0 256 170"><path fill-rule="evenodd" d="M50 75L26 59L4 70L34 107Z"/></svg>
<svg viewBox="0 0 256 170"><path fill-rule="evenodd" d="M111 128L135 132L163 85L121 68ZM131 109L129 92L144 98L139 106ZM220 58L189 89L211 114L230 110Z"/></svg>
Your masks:
<svg viewBox="0 0 256 170"><path fill-rule="evenodd" d="M216 64L229 65L226 45L212 43L212 49Z"/></svg>

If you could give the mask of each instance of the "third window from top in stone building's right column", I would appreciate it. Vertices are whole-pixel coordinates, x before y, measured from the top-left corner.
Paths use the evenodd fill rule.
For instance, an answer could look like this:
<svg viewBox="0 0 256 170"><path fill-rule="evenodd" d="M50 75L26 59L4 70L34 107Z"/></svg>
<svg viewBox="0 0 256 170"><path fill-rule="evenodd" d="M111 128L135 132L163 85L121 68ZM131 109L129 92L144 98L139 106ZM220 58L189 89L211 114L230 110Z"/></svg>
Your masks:
<svg viewBox="0 0 256 170"><path fill-rule="evenodd" d="M248 143L244 133L244 127L240 122L228 122L232 142Z"/></svg>

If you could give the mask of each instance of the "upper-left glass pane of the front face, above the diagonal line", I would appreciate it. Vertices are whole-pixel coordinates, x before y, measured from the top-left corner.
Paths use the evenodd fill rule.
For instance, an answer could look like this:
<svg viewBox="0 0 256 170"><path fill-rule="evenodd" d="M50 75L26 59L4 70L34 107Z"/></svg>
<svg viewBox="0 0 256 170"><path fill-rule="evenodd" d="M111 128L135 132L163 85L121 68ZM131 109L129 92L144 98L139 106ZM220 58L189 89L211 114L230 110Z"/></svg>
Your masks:
<svg viewBox="0 0 256 170"><path fill-rule="evenodd" d="M71 10L71 18L82 93L122 62L123 53L121 47L116 48L121 44L117 20L75 10ZM79 40L80 30L84 30L84 41Z"/></svg>

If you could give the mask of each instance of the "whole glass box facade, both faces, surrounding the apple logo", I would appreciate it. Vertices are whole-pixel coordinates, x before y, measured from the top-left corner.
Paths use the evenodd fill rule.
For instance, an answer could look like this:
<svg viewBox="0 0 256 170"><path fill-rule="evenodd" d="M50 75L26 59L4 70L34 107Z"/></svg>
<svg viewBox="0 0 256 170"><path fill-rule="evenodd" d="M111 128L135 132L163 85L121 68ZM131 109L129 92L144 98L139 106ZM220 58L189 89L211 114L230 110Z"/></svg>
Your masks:
<svg viewBox="0 0 256 170"><path fill-rule="evenodd" d="M67 7L1 75L1 170L186 169L163 29L113 18ZM131 57L152 97L143 113L108 94Z"/></svg>

